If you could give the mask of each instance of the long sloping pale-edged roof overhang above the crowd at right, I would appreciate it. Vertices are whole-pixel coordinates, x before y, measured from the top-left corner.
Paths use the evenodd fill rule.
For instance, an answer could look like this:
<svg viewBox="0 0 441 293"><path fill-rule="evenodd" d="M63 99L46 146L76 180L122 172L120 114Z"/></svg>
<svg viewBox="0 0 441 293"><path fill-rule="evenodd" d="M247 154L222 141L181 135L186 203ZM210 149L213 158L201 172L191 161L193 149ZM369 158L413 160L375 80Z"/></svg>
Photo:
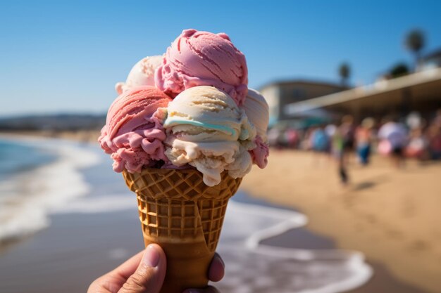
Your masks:
<svg viewBox="0 0 441 293"><path fill-rule="evenodd" d="M433 114L441 108L441 51L426 56L412 74L380 79L373 84L329 93L285 105L283 117L299 119L313 115L351 114L356 119L407 115L411 111Z"/></svg>

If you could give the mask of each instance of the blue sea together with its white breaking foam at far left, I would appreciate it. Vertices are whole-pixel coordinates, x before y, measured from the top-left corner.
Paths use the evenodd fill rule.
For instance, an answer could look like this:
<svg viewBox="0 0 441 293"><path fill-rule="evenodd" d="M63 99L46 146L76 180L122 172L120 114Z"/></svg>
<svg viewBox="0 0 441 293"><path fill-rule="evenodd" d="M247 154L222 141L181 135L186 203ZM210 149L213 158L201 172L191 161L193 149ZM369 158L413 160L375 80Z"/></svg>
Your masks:
<svg viewBox="0 0 441 293"><path fill-rule="evenodd" d="M0 137L0 244L49 225L51 211L85 195L91 152L54 139Z"/></svg>

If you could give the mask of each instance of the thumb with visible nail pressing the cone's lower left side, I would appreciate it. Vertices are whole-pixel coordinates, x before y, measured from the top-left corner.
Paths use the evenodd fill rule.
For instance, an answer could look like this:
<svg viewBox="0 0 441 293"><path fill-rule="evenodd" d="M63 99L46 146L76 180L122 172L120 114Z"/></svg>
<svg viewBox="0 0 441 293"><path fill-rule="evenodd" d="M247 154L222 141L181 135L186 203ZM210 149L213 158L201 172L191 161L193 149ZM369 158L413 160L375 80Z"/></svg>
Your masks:
<svg viewBox="0 0 441 293"><path fill-rule="evenodd" d="M156 244L147 246L135 273L118 293L159 293L166 276L166 254Z"/></svg>

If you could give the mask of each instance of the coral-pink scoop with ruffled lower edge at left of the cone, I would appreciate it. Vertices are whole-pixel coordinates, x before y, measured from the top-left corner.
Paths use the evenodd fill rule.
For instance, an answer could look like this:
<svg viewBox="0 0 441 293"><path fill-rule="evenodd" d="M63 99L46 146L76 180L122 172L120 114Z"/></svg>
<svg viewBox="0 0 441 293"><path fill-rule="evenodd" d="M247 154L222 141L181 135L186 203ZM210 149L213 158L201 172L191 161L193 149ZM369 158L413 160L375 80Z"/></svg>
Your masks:
<svg viewBox="0 0 441 293"><path fill-rule="evenodd" d="M134 173L168 161L162 121L170 100L154 86L139 86L112 103L98 141L104 152L111 154L114 171Z"/></svg>

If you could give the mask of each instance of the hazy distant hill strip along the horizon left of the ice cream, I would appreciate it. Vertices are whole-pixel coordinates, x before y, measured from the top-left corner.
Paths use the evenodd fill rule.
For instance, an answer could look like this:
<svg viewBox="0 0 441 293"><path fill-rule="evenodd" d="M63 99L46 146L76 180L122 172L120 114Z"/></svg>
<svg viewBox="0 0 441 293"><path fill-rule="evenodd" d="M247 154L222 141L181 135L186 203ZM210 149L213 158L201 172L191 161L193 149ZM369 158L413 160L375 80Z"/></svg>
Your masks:
<svg viewBox="0 0 441 293"><path fill-rule="evenodd" d="M57 114L0 117L0 130L3 131L77 131L101 129L106 123L106 115Z"/></svg>

